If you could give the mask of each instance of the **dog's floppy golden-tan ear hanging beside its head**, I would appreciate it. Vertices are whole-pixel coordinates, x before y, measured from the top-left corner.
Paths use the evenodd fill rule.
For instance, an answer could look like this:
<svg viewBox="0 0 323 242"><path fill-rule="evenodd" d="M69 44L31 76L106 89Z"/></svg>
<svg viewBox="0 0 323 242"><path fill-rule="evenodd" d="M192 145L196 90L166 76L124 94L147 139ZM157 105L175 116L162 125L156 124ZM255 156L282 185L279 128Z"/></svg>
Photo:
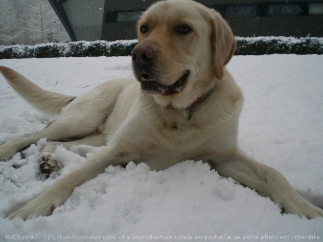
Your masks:
<svg viewBox="0 0 323 242"><path fill-rule="evenodd" d="M229 24L215 10L210 9L209 22L212 28L212 52L215 76L223 78L223 68L231 60L236 43Z"/></svg>

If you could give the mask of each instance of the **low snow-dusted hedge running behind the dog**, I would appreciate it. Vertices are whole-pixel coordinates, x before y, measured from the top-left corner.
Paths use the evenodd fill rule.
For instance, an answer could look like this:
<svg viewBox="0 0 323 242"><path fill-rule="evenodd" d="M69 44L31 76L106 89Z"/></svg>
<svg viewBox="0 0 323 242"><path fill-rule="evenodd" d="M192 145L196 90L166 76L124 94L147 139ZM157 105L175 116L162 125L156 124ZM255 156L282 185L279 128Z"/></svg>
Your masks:
<svg viewBox="0 0 323 242"><path fill-rule="evenodd" d="M235 55L323 54L323 38L295 37L236 37ZM0 59L84 57L84 56L128 56L137 44L129 41L78 41L36 45L0 46Z"/></svg>

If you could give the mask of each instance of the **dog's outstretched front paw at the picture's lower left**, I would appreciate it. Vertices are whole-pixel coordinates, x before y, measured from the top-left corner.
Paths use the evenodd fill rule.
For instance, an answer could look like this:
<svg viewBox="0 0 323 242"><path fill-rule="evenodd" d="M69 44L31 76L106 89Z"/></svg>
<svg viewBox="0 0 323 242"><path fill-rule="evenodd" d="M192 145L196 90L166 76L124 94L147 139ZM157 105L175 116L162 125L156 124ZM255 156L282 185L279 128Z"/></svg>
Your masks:
<svg viewBox="0 0 323 242"><path fill-rule="evenodd" d="M23 220L29 220L34 217L51 215L55 208L55 203L49 199L42 199L41 196L39 196L10 214L7 218L22 218Z"/></svg>

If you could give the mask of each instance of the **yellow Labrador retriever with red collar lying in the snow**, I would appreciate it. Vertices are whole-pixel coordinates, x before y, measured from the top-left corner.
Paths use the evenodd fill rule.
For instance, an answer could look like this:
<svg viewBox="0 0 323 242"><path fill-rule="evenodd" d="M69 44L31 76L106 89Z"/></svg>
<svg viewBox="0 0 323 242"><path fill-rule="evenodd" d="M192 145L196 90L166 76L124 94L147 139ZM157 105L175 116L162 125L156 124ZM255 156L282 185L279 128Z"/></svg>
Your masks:
<svg viewBox="0 0 323 242"><path fill-rule="evenodd" d="M192 0L158 2L139 20L138 41L132 51L137 81L109 81L76 98L45 91L0 67L29 103L60 114L44 130L2 144L0 160L47 137L56 142L43 147L42 159L49 170L55 170L56 161L48 153L58 144L67 148L104 145L79 168L10 214L10 219L50 215L75 187L110 165L145 162L160 170L186 159L210 162L220 175L269 196L286 213L323 216L323 210L297 194L284 176L239 149L243 96L225 69L235 40L218 12Z"/></svg>

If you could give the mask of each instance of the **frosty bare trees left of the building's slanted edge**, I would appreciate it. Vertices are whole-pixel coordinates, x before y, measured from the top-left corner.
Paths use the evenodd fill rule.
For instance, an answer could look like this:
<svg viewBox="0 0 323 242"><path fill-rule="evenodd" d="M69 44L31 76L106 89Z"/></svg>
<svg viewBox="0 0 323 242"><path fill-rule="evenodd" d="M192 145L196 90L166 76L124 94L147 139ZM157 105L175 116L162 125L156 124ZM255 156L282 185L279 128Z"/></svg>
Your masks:
<svg viewBox="0 0 323 242"><path fill-rule="evenodd" d="M47 0L0 0L0 45L69 40Z"/></svg>

